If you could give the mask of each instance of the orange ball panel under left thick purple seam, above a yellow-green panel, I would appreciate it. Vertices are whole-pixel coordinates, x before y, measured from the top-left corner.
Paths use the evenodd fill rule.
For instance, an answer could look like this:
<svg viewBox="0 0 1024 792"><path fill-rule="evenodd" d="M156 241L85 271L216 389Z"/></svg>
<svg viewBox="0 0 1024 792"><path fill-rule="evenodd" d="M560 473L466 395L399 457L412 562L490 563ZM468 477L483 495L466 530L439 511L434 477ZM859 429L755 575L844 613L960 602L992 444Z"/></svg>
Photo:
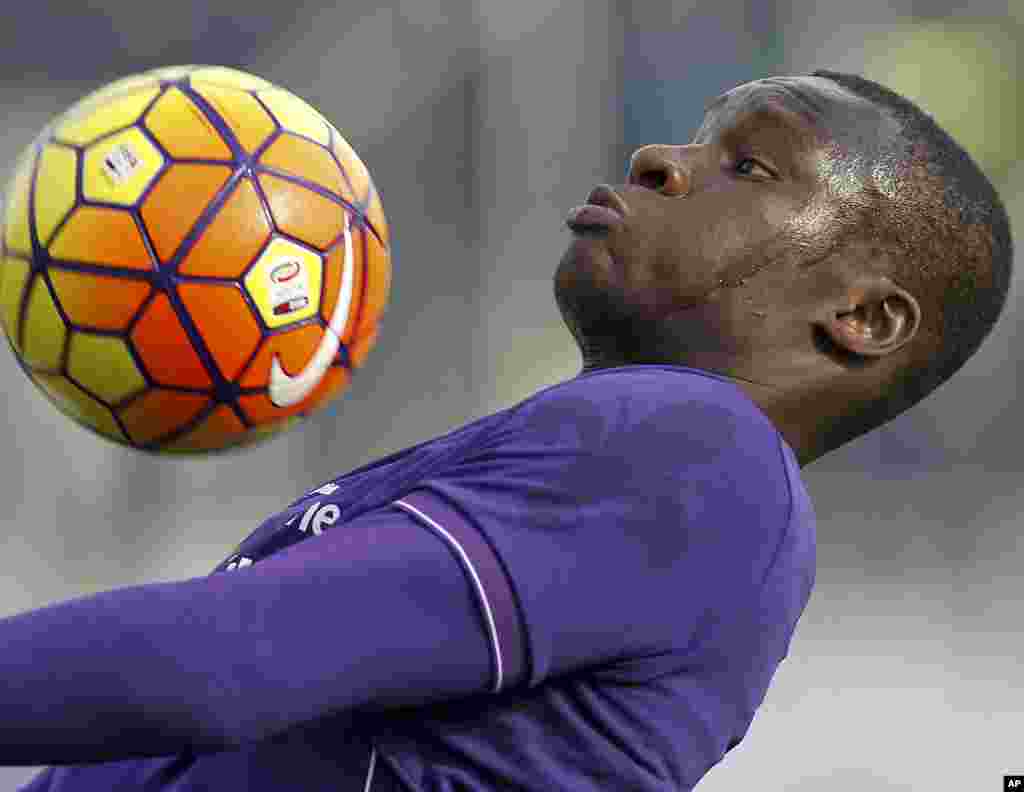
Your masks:
<svg viewBox="0 0 1024 792"><path fill-rule="evenodd" d="M152 291L130 278L77 273L50 267L50 282L60 307L76 325L96 330L124 330Z"/></svg>

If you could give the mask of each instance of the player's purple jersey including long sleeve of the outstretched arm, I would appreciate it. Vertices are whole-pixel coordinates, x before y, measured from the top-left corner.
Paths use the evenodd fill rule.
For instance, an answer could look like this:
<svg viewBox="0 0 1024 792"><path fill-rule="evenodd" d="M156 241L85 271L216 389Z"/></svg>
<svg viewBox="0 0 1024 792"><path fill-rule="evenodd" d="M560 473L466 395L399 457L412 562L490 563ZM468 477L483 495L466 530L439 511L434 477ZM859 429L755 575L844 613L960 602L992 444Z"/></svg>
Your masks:
<svg viewBox="0 0 1024 792"><path fill-rule="evenodd" d="M581 374L328 482L214 574L0 620L25 792L689 790L810 596L792 449L735 384Z"/></svg>

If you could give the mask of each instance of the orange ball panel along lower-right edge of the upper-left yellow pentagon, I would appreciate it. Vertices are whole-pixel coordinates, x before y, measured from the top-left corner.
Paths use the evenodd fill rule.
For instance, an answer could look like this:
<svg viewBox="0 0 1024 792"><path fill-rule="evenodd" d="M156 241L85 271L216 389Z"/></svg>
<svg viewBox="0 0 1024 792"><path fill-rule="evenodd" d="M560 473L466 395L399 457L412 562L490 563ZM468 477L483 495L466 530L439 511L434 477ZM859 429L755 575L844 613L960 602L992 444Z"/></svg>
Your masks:
<svg viewBox="0 0 1024 792"><path fill-rule="evenodd" d="M142 204L142 221L161 261L170 260L210 202L227 183L224 165L172 165ZM187 200L185 197L187 196Z"/></svg>

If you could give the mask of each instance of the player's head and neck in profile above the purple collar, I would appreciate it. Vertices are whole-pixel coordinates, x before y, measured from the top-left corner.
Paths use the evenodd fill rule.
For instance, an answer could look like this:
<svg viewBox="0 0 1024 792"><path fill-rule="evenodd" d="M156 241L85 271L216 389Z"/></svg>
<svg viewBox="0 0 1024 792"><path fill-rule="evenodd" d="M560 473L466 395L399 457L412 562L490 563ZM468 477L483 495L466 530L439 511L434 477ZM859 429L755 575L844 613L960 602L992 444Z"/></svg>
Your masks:
<svg viewBox="0 0 1024 792"><path fill-rule="evenodd" d="M643 147L591 202L624 219L570 217L555 295L585 369L733 377L805 463L948 379L1009 289L992 184L920 108L855 75L733 88L691 143Z"/></svg>

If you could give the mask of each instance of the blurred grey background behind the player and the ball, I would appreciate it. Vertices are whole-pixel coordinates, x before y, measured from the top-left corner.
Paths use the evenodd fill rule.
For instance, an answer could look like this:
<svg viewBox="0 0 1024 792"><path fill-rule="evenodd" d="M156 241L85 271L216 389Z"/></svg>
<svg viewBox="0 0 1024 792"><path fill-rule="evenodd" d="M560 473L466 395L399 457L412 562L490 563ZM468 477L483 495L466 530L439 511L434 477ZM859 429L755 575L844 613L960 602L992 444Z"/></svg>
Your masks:
<svg viewBox="0 0 1024 792"><path fill-rule="evenodd" d="M742 82L852 71L919 101L1024 228L1017 0L16 3L0 163L117 77L255 72L369 165L395 249L379 342L338 403L246 453L159 459L59 415L0 352L0 617L207 574L301 491L573 376L552 297L565 212L686 142ZM1018 246L1021 246L1018 241ZM805 469L819 570L746 740L702 792L995 789L1024 772L1019 284L927 402ZM0 650L2 651L2 650ZM34 774L0 768L0 789Z"/></svg>

